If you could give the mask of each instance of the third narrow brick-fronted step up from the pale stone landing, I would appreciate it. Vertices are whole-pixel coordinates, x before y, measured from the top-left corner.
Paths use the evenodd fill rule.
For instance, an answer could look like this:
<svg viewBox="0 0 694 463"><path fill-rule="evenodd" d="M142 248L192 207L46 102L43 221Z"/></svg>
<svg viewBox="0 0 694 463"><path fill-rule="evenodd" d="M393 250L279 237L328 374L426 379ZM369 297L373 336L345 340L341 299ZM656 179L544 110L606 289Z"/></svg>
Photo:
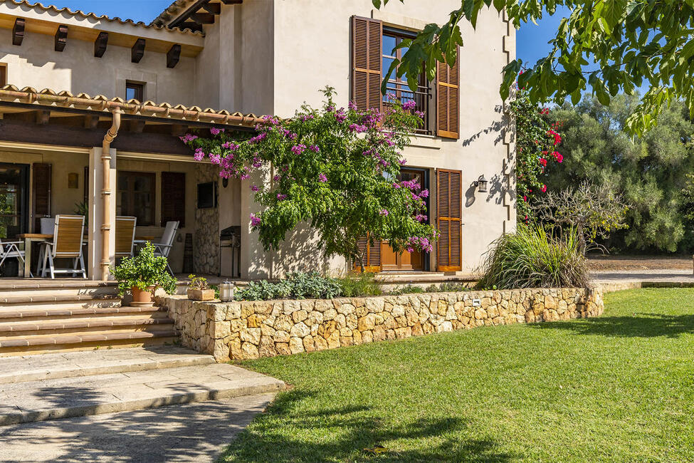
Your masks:
<svg viewBox="0 0 694 463"><path fill-rule="evenodd" d="M144 314L162 311L158 307L131 307L131 306L106 306L83 307L79 304L65 304L50 306L48 308L38 306L0 307L0 322L9 321L35 321L36 319L55 319L68 317L96 318L101 316L113 316L115 314Z"/></svg>

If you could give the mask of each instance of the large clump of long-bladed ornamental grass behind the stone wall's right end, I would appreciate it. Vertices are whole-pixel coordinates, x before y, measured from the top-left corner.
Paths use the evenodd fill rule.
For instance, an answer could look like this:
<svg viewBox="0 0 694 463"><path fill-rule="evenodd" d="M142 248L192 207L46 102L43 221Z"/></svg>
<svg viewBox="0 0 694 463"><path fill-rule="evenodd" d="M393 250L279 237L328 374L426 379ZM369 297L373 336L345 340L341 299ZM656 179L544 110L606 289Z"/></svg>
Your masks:
<svg viewBox="0 0 694 463"><path fill-rule="evenodd" d="M493 243L478 288L577 288L589 283L574 229L557 237L537 225L520 224L515 233Z"/></svg>

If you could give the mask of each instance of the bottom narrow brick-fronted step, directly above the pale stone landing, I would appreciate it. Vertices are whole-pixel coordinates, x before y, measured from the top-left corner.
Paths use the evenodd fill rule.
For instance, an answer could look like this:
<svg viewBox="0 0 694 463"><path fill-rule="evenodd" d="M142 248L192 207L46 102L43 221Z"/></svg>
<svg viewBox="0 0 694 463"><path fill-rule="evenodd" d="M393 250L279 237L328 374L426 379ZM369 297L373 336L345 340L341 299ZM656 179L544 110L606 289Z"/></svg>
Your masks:
<svg viewBox="0 0 694 463"><path fill-rule="evenodd" d="M93 333L74 333L70 335L37 335L0 340L0 355L16 353L41 353L48 350L70 348L105 348L114 344L140 344L157 339L159 342L177 340L173 329L148 331L96 331Z"/></svg>

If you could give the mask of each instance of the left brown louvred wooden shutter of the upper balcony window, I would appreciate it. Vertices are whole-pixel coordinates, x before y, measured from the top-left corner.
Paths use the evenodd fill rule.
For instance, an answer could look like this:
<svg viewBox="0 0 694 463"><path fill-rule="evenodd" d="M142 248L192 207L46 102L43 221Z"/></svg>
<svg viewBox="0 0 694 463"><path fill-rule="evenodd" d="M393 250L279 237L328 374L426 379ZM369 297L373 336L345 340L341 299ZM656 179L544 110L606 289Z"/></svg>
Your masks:
<svg viewBox="0 0 694 463"><path fill-rule="evenodd" d="M381 109L381 40L376 19L352 16L352 101L360 110Z"/></svg>

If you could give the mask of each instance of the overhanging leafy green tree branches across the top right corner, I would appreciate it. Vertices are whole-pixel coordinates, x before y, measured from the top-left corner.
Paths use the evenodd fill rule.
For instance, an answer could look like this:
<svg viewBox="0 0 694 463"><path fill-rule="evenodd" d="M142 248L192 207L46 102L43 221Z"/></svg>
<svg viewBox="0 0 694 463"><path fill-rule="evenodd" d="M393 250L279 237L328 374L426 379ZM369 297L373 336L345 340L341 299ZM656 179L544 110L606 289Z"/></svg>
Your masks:
<svg viewBox="0 0 694 463"><path fill-rule="evenodd" d="M380 8L388 1L373 4ZM658 115L679 99L694 115L694 0L462 0L445 24L429 24L416 38L399 44L407 51L401 62L394 60L389 75L407 76L413 90L421 71L433 79L436 62L453 63L456 47L464 45L461 21L475 27L484 9L505 11L520 27L554 15L558 6L571 13L559 23L547 56L537 63L509 63L503 69L502 98L508 98L518 72L527 67L518 83L536 103L553 98L561 104L571 98L575 104L591 90L607 105L618 93L634 95L647 85L624 121L630 132L653 127Z"/></svg>

